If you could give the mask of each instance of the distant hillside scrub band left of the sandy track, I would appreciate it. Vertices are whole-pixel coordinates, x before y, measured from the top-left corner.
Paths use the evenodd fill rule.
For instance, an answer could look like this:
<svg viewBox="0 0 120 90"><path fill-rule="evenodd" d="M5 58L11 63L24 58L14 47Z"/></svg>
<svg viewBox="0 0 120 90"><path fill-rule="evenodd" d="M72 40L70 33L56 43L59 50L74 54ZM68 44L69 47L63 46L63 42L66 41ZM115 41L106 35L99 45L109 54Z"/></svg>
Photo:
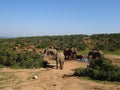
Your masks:
<svg viewBox="0 0 120 90"><path fill-rule="evenodd" d="M29 45L34 45L36 48L55 46L64 49L66 47L76 47L78 50L84 50L86 48L83 41L84 36L85 35L65 35L1 39L0 47L12 47L15 46L15 44L21 44L22 47Z"/></svg>

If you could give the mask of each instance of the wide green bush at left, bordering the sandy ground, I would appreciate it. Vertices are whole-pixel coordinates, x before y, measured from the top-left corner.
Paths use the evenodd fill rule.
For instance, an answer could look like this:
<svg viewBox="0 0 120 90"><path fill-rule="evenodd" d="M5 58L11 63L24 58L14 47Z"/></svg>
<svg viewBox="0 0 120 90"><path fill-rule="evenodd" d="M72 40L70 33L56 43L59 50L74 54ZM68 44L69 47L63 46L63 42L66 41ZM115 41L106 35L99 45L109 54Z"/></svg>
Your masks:
<svg viewBox="0 0 120 90"><path fill-rule="evenodd" d="M0 51L0 64L12 68L40 68L47 66L42 54L28 51L17 54L9 50Z"/></svg>

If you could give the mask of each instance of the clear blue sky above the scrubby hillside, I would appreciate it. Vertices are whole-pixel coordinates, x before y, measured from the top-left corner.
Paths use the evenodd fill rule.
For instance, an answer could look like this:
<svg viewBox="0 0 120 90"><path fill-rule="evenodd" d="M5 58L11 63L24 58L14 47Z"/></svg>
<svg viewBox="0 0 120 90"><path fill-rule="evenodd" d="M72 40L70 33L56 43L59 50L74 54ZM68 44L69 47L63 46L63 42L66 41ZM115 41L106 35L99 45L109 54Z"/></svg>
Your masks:
<svg viewBox="0 0 120 90"><path fill-rule="evenodd" d="M0 36L120 33L120 0L0 0Z"/></svg>

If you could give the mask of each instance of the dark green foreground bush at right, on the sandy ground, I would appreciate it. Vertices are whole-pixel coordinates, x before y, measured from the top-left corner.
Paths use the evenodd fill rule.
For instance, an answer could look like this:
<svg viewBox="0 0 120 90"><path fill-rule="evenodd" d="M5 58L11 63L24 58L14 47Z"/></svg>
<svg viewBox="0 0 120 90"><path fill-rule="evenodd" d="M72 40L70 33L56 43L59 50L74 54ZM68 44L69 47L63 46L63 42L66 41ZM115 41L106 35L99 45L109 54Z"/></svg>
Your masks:
<svg viewBox="0 0 120 90"><path fill-rule="evenodd" d="M91 60L87 68L77 69L76 76L87 76L95 80L120 81L120 67L105 58Z"/></svg>

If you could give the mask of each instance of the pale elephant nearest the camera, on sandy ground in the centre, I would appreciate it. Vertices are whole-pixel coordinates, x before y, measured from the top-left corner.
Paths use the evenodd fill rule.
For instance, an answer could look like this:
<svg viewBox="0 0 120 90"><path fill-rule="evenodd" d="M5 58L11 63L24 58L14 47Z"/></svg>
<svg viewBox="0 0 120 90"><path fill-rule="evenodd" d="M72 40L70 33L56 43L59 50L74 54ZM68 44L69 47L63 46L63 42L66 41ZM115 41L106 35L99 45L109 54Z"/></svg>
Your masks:
<svg viewBox="0 0 120 90"><path fill-rule="evenodd" d="M62 52L58 52L56 55L56 69L58 69L58 64L60 64L60 69L63 69L65 56Z"/></svg>

